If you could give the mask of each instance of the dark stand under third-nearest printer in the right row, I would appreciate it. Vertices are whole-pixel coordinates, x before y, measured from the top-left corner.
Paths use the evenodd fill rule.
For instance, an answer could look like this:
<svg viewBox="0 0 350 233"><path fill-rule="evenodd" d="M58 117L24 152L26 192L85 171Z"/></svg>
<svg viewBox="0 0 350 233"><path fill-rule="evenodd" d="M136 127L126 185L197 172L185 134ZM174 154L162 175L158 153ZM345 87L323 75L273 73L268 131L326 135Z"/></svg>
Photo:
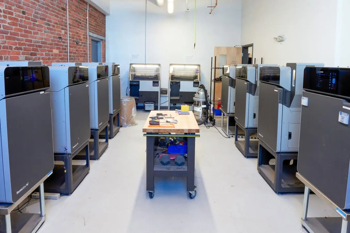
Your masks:
<svg viewBox="0 0 350 233"><path fill-rule="evenodd" d="M238 130L244 131L244 140L238 140ZM236 121L236 132L235 132L235 145L237 149L243 154L245 158L247 157L258 157L259 143L258 140L254 140L254 144L251 145L252 133L257 133L257 128L244 128Z"/></svg>

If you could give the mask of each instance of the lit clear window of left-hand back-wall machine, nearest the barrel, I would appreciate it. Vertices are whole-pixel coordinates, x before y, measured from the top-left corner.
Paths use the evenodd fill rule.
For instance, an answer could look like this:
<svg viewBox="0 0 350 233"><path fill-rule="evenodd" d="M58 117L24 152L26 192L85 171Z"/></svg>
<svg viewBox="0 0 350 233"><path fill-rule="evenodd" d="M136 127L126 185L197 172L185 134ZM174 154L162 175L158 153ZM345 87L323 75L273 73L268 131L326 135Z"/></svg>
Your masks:
<svg viewBox="0 0 350 233"><path fill-rule="evenodd" d="M129 80L159 80L160 65L130 64Z"/></svg>

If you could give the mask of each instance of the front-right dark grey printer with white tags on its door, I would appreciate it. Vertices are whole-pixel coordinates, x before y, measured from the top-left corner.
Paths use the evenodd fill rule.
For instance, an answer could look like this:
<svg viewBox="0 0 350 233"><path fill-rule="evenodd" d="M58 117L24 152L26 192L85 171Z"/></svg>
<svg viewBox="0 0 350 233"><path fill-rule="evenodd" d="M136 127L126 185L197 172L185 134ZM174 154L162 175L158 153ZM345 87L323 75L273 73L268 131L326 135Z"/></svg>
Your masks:
<svg viewBox="0 0 350 233"><path fill-rule="evenodd" d="M350 208L350 68L306 67L297 170L340 209Z"/></svg>

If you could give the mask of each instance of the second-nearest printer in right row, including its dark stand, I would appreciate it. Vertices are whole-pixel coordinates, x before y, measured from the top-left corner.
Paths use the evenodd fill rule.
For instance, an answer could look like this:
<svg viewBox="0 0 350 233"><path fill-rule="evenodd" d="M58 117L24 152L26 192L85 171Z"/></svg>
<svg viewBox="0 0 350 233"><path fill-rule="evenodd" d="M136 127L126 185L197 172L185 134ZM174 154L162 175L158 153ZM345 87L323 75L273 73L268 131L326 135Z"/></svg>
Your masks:
<svg viewBox="0 0 350 233"><path fill-rule="evenodd" d="M323 64L287 63L260 67L258 172L279 192L302 192L296 177L304 68ZM274 158L274 165L270 164Z"/></svg>

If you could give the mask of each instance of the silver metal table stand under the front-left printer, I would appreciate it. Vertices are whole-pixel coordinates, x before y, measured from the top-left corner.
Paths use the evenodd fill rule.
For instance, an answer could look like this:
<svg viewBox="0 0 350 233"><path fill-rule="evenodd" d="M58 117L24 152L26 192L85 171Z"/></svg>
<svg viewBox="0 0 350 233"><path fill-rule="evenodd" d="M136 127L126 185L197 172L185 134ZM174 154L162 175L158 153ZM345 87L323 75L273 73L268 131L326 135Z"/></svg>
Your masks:
<svg viewBox="0 0 350 233"><path fill-rule="evenodd" d="M26 195L20 198L16 203L0 203L0 232L4 233L34 233L44 223L45 216L45 200L44 200L44 180L33 186ZM25 200L36 188L40 186L40 213L11 213L19 204Z"/></svg>

